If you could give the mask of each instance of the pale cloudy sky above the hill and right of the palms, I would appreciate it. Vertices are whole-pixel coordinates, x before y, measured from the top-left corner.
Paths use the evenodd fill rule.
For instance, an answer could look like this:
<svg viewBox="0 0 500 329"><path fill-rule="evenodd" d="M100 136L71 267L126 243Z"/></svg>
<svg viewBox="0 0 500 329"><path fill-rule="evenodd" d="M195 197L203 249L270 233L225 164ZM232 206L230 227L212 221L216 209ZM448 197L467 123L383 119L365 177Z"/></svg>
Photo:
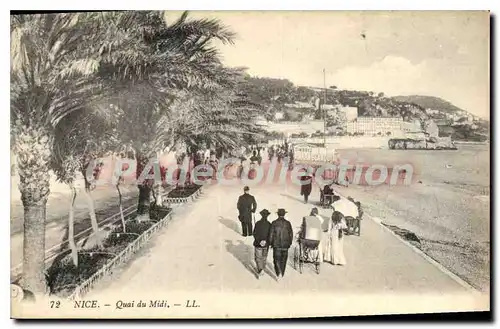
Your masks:
<svg viewBox="0 0 500 329"><path fill-rule="evenodd" d="M175 14L172 14L175 15ZM488 12L218 11L225 64L295 85L441 97L489 118ZM168 18L167 18L168 20Z"/></svg>

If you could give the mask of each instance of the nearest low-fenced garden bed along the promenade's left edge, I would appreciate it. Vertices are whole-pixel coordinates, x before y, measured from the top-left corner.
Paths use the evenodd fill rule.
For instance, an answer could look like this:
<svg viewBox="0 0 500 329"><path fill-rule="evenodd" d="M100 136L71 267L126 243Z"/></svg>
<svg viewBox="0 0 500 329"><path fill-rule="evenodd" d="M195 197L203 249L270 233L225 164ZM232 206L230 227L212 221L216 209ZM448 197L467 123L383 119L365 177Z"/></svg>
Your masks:
<svg viewBox="0 0 500 329"><path fill-rule="evenodd" d="M71 255L54 262L47 271L50 293L70 298L84 295L99 279L111 274L115 266L126 262L141 248L154 232L164 226L170 214L171 209L164 207L152 209L150 222L129 221L126 233L121 225L113 226L103 248L78 252L78 267L73 264Z"/></svg>

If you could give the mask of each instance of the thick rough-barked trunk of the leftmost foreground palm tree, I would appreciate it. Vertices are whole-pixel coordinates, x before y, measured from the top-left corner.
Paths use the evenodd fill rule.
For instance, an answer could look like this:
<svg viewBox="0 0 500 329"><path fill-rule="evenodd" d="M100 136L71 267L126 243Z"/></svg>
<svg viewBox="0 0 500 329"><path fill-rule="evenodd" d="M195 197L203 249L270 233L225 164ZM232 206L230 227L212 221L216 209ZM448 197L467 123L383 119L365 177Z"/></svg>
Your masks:
<svg viewBox="0 0 500 329"><path fill-rule="evenodd" d="M14 145L19 173L19 191L24 206L23 280L26 290L46 294L45 218L50 193L51 138L43 130L19 127Z"/></svg>

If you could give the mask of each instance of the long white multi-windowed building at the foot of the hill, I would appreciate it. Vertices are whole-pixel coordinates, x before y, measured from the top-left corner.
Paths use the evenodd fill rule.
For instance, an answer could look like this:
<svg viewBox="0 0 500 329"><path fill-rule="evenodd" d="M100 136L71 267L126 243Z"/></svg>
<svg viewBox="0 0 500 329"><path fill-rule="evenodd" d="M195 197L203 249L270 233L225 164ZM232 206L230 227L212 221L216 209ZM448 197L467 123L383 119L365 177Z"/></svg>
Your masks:
<svg viewBox="0 0 500 329"><path fill-rule="evenodd" d="M352 122L347 122L347 133L401 136L402 124L401 117L358 117Z"/></svg>

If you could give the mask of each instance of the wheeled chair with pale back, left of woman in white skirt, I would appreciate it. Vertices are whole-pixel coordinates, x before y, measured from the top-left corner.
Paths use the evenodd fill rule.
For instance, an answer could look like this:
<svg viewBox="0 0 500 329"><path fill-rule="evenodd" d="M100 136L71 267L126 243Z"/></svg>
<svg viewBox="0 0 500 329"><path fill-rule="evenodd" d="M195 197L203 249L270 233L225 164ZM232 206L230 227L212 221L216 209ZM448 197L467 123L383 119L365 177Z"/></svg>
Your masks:
<svg viewBox="0 0 500 329"><path fill-rule="evenodd" d="M305 263L313 264L319 274L321 266L321 220L315 216L304 217L300 231L297 233L297 244L294 248L293 267L302 274Z"/></svg>

